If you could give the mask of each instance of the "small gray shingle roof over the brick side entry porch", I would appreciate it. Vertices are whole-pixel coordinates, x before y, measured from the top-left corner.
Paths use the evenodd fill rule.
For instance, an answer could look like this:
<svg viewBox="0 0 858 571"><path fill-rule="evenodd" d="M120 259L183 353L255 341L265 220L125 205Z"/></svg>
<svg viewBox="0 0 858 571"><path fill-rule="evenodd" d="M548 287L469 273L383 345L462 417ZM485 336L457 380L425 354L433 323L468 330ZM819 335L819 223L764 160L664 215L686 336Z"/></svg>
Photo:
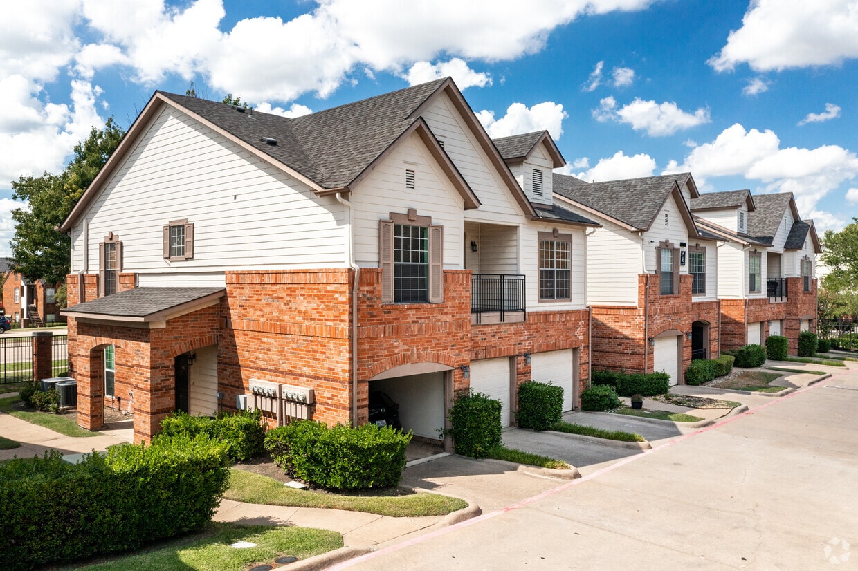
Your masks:
<svg viewBox="0 0 858 571"><path fill-rule="evenodd" d="M226 290L222 287L136 287L72 305L63 310L63 314L146 318L218 292Z"/></svg>

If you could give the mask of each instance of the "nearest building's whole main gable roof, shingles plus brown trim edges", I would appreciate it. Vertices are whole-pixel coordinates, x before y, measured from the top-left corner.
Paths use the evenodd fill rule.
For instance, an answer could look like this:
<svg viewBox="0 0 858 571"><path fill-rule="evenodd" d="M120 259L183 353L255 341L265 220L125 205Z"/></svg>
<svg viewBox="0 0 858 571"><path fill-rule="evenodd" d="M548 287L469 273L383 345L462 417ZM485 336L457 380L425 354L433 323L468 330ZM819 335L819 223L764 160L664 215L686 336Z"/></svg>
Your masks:
<svg viewBox="0 0 858 571"><path fill-rule="evenodd" d="M359 183L371 172L372 167L384 159L397 141L416 133L462 195L465 208L479 207L479 198L447 153L444 153L426 121L420 117L420 111L442 92L453 99L468 128L474 132L478 143L500 171L523 211L533 216L533 207L523 190L518 187L515 177L492 145L462 93L448 77L295 118L156 91L60 229L69 231L100 186L106 183L124 155L130 152L136 138L147 129L148 123L164 105L194 117L260 159L307 184L318 195L350 191L349 187Z"/></svg>

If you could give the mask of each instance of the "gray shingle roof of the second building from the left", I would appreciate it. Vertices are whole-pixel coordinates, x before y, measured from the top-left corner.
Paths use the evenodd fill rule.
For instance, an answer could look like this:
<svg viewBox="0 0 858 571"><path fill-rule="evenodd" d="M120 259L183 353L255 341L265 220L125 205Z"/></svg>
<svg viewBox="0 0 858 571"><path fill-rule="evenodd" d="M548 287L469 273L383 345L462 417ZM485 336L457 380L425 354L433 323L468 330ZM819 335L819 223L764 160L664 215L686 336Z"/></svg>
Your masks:
<svg viewBox="0 0 858 571"><path fill-rule="evenodd" d="M690 173L661 177L627 178L604 183L584 183L568 175L554 174L554 192L594 208L632 228L649 228L675 185L680 188Z"/></svg>

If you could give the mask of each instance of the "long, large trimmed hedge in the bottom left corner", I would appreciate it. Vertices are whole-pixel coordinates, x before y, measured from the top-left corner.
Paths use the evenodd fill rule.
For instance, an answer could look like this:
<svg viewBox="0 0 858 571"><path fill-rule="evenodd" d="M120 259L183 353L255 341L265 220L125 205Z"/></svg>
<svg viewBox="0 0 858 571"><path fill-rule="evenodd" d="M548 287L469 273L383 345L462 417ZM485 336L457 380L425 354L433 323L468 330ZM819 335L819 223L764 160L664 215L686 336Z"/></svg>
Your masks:
<svg viewBox="0 0 858 571"><path fill-rule="evenodd" d="M227 447L156 436L69 464L56 451L0 466L4 569L66 564L205 526L227 490Z"/></svg>

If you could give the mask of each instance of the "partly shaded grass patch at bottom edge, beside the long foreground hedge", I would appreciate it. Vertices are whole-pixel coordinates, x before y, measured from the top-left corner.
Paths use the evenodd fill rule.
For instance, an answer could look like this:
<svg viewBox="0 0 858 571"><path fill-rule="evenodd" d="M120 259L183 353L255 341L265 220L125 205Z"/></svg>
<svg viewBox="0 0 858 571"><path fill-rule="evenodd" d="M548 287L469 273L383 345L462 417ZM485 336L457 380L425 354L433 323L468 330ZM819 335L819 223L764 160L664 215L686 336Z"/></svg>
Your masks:
<svg viewBox="0 0 858 571"><path fill-rule="evenodd" d="M256 547L230 547L238 541ZM126 571L127 569L193 569L195 571L241 571L254 564L275 564L280 556L299 559L317 556L342 547L337 532L312 527L242 526L212 523L205 532L166 544L157 544L134 555L113 557L110 561L78 569L88 571Z"/></svg>

